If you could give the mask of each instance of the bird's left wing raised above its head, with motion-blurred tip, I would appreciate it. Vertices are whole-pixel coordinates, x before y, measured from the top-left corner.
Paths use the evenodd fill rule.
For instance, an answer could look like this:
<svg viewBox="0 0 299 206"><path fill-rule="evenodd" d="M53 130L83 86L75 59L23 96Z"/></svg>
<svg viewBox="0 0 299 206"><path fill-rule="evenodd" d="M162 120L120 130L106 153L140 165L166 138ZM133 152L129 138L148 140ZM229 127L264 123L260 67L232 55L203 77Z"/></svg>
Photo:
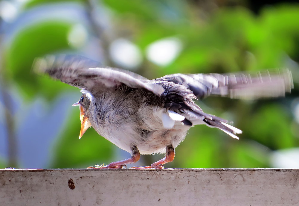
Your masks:
<svg viewBox="0 0 299 206"><path fill-rule="evenodd" d="M125 84L132 88L144 88L161 96L164 88L158 84L145 83L141 75L123 69L97 67L98 63L78 56L52 56L36 58L33 70L47 73L54 79L96 94L107 88ZM89 68L92 67L92 68Z"/></svg>

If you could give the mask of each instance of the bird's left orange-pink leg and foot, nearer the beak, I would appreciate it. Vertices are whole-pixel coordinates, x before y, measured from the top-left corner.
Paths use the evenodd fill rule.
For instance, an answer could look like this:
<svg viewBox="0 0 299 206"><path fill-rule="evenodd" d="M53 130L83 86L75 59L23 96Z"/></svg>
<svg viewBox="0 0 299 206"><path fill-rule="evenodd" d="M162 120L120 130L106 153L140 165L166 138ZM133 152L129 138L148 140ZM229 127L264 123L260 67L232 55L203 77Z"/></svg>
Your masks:
<svg viewBox="0 0 299 206"><path fill-rule="evenodd" d="M117 162L112 162L109 165L106 166L98 166L98 167L87 167L87 169L126 169L126 164L131 164L131 163L135 163L140 159L140 152L137 149L136 146L132 145L131 146L131 157L125 160L120 160Z"/></svg>

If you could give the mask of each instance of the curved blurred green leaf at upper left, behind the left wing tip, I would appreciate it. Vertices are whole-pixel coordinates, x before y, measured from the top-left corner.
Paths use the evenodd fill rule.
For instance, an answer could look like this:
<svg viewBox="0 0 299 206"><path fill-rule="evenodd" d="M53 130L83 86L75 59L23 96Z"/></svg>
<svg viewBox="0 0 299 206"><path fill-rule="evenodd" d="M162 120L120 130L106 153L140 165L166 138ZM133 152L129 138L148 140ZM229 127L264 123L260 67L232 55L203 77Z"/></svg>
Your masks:
<svg viewBox="0 0 299 206"><path fill-rule="evenodd" d="M70 28L69 23L41 22L26 27L13 38L6 53L5 75L14 81L26 99L32 99L45 90L44 95L53 98L59 91L61 85L39 78L31 71L31 66L35 57L70 49L67 41Z"/></svg>

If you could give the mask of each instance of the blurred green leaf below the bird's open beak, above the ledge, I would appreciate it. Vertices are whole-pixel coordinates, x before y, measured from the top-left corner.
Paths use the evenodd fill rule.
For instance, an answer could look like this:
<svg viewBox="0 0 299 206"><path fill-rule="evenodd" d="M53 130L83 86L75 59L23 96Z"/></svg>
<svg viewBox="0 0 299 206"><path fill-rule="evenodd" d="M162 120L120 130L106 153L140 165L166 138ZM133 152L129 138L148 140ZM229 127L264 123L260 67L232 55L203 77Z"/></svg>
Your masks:
<svg viewBox="0 0 299 206"><path fill-rule="evenodd" d="M80 120L78 121L78 111L73 112L68 117L65 125L62 125L61 138L52 153L52 168L72 168L74 166L86 167L86 163L94 165L96 163L113 161L113 146L105 138L99 138L94 129L86 131L79 141Z"/></svg>

